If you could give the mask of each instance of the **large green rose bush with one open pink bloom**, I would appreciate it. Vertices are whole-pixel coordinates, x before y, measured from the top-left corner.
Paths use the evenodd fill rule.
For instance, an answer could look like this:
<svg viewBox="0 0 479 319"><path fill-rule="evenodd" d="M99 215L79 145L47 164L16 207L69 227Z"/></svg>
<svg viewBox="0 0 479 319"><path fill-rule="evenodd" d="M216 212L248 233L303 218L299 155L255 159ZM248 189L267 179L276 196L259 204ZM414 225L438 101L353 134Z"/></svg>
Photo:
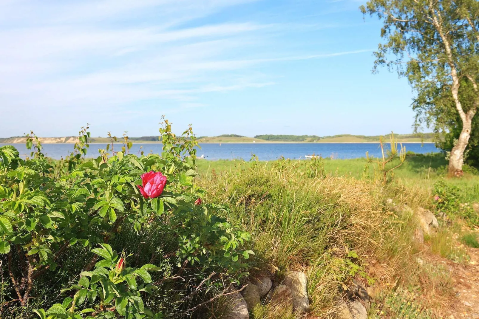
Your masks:
<svg viewBox="0 0 479 319"><path fill-rule="evenodd" d="M54 296L39 294L48 286L36 283L47 282L57 272L63 277L56 282L68 282L83 270L96 272L103 279L95 277L90 286L85 287L86 282L82 286L80 281L85 281L82 278L88 274L83 273L79 284L71 286L77 290L72 292L73 299L67 298L61 305L65 313L47 310L45 314L50 311L52 318L80 318L96 313L93 318L110 318L110 315L101 317L99 310L113 303L108 311L114 316L130 318L121 310L125 299L120 299L123 295L119 295L115 286L124 283L115 283L115 276L104 273L125 271L125 255L115 262L117 256L108 248L110 243L118 250L127 249L133 253L144 240L156 241L155 249L155 245L140 249L146 255L137 253L133 268L148 268L150 266L139 262L156 260L162 264L157 274L159 283L173 285L177 291L194 292L180 294L175 309L181 309L182 302L191 303L198 292L185 283L171 283L170 277L182 278L187 273L190 283L194 283L203 282L205 273L221 273L221 280L209 277L206 282L212 287L207 291L214 292L221 290L223 284L220 283L225 279L235 282L247 274L248 265L244 260L252 251L245 249L244 243L250 239L249 233L220 217L222 211L228 210L227 206L199 200L205 191L194 184L196 142L191 127L177 137L171 132L170 123L165 121L160 133L161 156L126 154L131 147L127 144L121 152L114 153L112 145L112 154L107 147L100 150L98 158L86 160L84 155L90 136L86 130L80 131L81 142L75 145L77 153L63 161L45 159L39 151L32 153L32 159L22 159L14 147L0 147L0 258L4 278L9 278L6 288L0 290L0 298L7 307L0 311L10 311L24 318L22 313L28 312L33 303L45 306L48 301L46 304L40 302L42 298L54 299ZM33 144L32 138L27 142ZM103 248L95 248L98 245ZM99 257L103 260L99 261ZM78 266L70 270L71 264ZM188 269L187 264L196 266ZM141 270L136 272L142 278L142 274L145 275ZM120 290L143 296L143 292L135 290L139 286L128 282L128 276L124 277L127 286ZM93 294L91 291L100 287L99 284L103 293L109 294L103 296L106 299L83 298L85 291L87 295ZM91 288L92 285L96 285L95 288ZM156 286L160 290L167 289L164 285ZM151 292L148 298L160 298L161 295ZM186 296L189 301L182 299ZM160 307L158 300L154 304ZM142 307L138 308L135 300L131 302L137 309L135 318L151 315ZM59 310L58 305L52 307ZM68 307L73 310L67 311ZM37 311L42 317L42 311Z"/></svg>

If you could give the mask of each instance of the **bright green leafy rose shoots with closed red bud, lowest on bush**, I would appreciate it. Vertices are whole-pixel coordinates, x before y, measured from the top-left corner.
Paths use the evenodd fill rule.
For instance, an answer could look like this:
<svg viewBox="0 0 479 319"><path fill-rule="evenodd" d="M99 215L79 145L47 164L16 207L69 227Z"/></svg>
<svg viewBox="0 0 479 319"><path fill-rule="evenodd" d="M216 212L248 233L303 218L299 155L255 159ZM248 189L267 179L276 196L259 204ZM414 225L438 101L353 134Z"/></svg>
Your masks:
<svg viewBox="0 0 479 319"><path fill-rule="evenodd" d="M130 319L163 318L153 313L145 304L141 293L151 294L158 286L151 284L151 271L161 271L152 264L140 268L125 267L126 257L118 255L108 244L100 244L93 253L102 257L93 271L80 273L80 280L62 292L75 290L73 298L67 297L61 304L48 310L35 309L40 319L109 319L118 316ZM138 283L138 280L141 282Z"/></svg>

